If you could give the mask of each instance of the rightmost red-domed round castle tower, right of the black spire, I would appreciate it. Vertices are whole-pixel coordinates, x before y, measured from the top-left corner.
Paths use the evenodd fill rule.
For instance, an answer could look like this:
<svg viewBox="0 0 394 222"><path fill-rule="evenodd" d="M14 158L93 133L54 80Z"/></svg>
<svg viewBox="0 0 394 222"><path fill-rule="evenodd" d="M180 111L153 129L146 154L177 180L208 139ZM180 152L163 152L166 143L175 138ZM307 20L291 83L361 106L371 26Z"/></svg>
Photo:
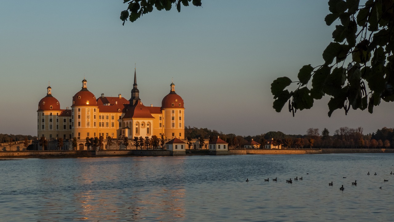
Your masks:
<svg viewBox="0 0 394 222"><path fill-rule="evenodd" d="M164 118L164 137L167 139L185 139L184 103L182 97L175 92L174 82L171 90L162 100Z"/></svg>

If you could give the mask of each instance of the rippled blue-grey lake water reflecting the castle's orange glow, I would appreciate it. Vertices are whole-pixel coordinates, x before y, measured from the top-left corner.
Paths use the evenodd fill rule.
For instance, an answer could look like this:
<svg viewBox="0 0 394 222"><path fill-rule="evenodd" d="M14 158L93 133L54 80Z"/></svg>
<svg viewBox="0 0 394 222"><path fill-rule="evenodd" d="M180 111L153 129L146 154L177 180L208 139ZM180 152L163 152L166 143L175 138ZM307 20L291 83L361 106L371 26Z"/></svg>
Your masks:
<svg viewBox="0 0 394 222"><path fill-rule="evenodd" d="M0 221L392 221L393 164L394 154L0 161Z"/></svg>

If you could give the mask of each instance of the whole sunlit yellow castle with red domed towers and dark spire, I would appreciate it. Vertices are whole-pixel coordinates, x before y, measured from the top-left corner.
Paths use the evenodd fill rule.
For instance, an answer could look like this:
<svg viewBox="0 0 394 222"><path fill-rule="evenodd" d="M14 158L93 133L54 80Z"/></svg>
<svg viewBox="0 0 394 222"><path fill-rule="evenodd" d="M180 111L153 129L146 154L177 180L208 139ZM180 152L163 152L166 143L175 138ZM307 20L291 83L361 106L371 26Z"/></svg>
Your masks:
<svg viewBox="0 0 394 222"><path fill-rule="evenodd" d="M164 96L161 107L145 106L139 98L136 70L130 100L119 94L99 98L87 89L87 80L82 80L82 89L72 97L71 109L60 109L59 101L52 96L52 88L38 103L37 136L46 139L85 139L103 136L114 139L128 137L152 137L184 140L184 102L171 83L169 94Z"/></svg>

